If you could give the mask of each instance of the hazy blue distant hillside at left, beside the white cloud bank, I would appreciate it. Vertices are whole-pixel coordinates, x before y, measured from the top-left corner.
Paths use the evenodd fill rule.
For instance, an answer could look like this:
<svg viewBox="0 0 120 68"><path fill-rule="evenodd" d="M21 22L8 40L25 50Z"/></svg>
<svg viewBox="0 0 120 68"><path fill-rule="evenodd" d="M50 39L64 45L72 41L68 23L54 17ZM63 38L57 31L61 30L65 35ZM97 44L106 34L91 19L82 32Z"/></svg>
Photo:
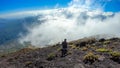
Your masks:
<svg viewBox="0 0 120 68"><path fill-rule="evenodd" d="M38 16L18 19L0 19L0 45L19 37L19 33L27 32L25 26L38 23Z"/></svg>

